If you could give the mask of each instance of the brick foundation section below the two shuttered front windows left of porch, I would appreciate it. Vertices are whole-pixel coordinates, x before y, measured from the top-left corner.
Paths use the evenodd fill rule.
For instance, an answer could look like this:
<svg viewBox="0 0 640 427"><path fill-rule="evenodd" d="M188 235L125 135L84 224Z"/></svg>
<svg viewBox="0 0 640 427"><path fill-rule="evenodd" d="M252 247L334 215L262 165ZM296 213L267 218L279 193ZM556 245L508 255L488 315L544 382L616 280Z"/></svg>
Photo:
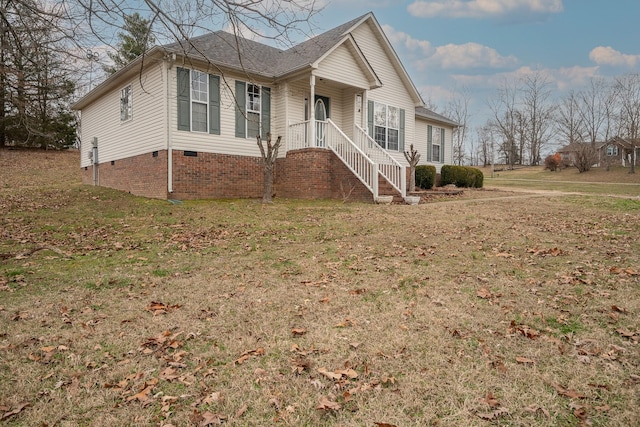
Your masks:
<svg viewBox="0 0 640 427"><path fill-rule="evenodd" d="M195 152L186 152L194 154ZM262 197L263 167L259 157L173 151L172 199Z"/></svg>

